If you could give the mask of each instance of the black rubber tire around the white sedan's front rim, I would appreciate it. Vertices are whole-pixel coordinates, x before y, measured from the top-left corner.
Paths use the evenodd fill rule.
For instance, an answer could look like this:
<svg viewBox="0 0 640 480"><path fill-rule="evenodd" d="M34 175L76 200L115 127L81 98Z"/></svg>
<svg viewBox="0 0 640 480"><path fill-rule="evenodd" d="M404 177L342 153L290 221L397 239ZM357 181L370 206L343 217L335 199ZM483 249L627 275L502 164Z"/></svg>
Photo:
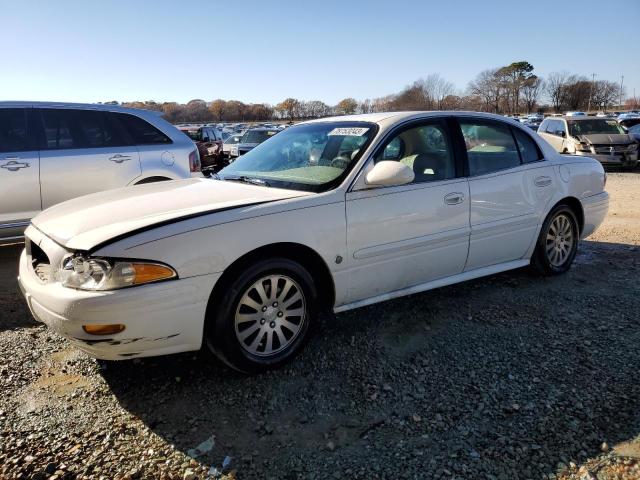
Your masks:
<svg viewBox="0 0 640 480"><path fill-rule="evenodd" d="M276 341L275 337L280 339L280 336L273 330L277 328L280 335L285 331L291 333L293 330L287 330L286 326L281 326L280 324L278 324L277 327L271 327L271 330L268 329L272 323L281 321L279 318L274 317L274 315L280 315L281 313L280 311L277 311L279 309L272 308L272 305L275 305L275 303L269 305L269 311L264 313L265 317L271 315L273 318L267 317L266 322L264 318L256 321L256 323L253 323L253 320L246 322L247 324L250 324L250 327L246 328L243 332L236 333L239 328L236 326L236 314L257 314L258 316L262 316L258 309L255 309L256 313L239 313L242 308L246 308L246 303L241 304L240 302L246 298L246 295L248 295L250 291L255 293L255 290L252 290L252 286L259 282L260 279L264 279L264 277L267 276L280 277L277 281L278 286L276 288L277 292L281 292L281 294L285 293L284 286L282 287L282 291L280 291L280 285L282 285L282 282L285 282L283 278L292 280L295 289L300 289L301 291L302 300L300 305L302 305L302 308L297 310L303 311L304 315L299 319L299 329L295 334L292 334L289 339L286 339L283 336L282 338L284 338L285 341L282 342L282 344L280 344L279 341ZM271 283L268 280L265 280L265 282L266 283L264 285L266 285L266 287L264 287L263 292L267 292L267 290L270 292ZM290 289L292 290L294 287L290 287ZM278 293L276 293L276 295L278 295ZM262 296L259 296L258 298L262 298ZM288 298L293 298L293 296L288 296ZM271 300L266 303L270 302ZM207 348L231 368L243 373L252 374L278 368L290 361L301 351L302 347L309 339L310 333L316 323L318 295L313 277L304 267L286 258L273 258L256 262L246 270L239 273L236 278L231 281L226 291L221 295L220 301L215 303L215 305L210 304L205 322L205 344L207 345ZM281 303L286 303L284 297L282 298ZM297 303L298 302L294 302L291 305L295 306ZM262 308L265 307L263 306ZM282 305L280 305L280 308L282 308ZM284 315L284 320L286 321L288 319L296 321L297 317ZM246 339L247 344L243 346L238 335L252 330L256 326L258 328L256 336L254 337L253 334L250 335ZM263 330L265 331L264 334ZM266 335L266 337L263 337L262 335ZM273 347L275 347L277 343L281 350L273 354L265 352L256 352L256 354L252 353L248 350L250 348L248 344L253 344L253 341L257 337L261 337L261 339L264 340L265 351L267 348L266 344L270 342L270 346ZM263 345L263 340L259 341L258 349Z"/></svg>

